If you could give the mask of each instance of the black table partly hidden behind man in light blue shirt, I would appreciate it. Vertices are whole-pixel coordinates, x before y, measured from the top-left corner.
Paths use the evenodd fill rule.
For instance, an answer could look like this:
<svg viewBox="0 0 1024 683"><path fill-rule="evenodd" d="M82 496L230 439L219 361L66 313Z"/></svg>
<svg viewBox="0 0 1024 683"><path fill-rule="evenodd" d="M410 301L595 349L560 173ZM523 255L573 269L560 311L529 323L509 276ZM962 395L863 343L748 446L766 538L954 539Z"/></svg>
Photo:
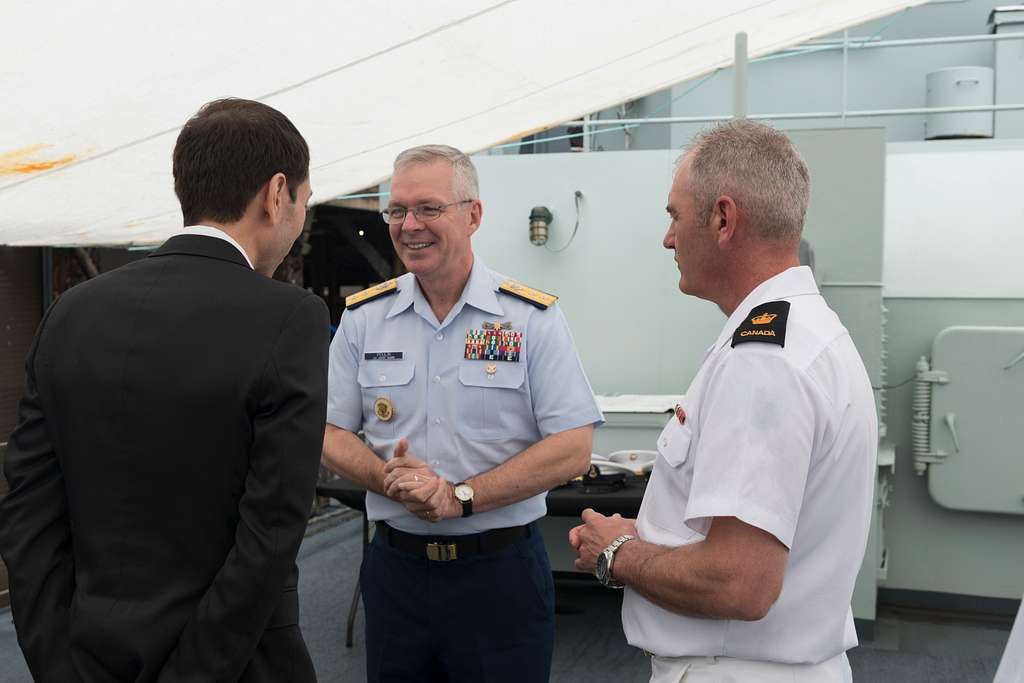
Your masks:
<svg viewBox="0 0 1024 683"><path fill-rule="evenodd" d="M646 479L632 477L625 480L615 490L598 493L583 481L574 481L548 492L549 517L579 517L587 508L593 508L604 515L616 512L624 517L636 517L647 489ZM337 478L316 486L316 495L333 498L342 505L362 513L362 545L370 543L370 522L367 519L367 489L348 479ZM348 607L345 627L345 646L352 646L352 631L355 612L359 606L359 582L355 582L355 593Z"/></svg>

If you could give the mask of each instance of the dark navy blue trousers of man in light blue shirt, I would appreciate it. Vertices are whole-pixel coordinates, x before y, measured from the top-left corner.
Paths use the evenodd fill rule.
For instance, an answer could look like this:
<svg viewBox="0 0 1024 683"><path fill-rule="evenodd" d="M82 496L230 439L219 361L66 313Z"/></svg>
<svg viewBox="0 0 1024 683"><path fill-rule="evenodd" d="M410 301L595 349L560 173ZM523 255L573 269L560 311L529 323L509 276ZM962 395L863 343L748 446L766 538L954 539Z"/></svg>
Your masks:
<svg viewBox="0 0 1024 683"><path fill-rule="evenodd" d="M379 536L359 571L370 683L545 683L554 582L537 524L492 553L436 562Z"/></svg>

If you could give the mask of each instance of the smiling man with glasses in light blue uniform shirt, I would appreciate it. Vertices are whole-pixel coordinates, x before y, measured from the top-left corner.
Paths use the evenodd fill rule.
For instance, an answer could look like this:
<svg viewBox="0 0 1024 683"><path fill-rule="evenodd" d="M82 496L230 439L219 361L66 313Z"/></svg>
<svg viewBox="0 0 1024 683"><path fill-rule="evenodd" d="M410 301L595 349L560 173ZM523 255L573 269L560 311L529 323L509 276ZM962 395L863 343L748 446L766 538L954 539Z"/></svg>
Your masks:
<svg viewBox="0 0 1024 683"><path fill-rule="evenodd" d="M368 679L546 681L554 589L535 522L587 470L601 413L556 297L474 257L465 155L403 152L383 214L410 272L346 300L324 442L376 522Z"/></svg>

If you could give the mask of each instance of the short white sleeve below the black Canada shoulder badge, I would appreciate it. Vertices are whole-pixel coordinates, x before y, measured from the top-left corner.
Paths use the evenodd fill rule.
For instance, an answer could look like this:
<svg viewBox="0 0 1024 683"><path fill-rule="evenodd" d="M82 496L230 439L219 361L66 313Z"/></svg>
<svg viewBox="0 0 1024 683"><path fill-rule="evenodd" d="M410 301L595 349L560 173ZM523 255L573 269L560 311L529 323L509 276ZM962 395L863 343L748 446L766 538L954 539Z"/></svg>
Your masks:
<svg viewBox="0 0 1024 683"><path fill-rule="evenodd" d="M684 519L695 531L736 517L793 544L818 416L809 381L781 350L736 349L710 380Z"/></svg>

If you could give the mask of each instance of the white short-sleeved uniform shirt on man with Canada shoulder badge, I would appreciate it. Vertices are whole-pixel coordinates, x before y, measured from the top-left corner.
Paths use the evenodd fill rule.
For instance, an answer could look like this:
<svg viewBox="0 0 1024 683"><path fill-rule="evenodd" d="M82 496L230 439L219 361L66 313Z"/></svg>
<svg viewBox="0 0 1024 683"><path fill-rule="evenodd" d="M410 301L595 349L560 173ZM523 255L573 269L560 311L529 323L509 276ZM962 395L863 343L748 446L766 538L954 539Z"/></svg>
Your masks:
<svg viewBox="0 0 1024 683"><path fill-rule="evenodd" d="M733 346L737 328L752 329L752 309L772 301L790 302L784 346ZM850 598L870 523L878 422L864 365L809 268L751 292L683 408L685 423L673 416L657 441L640 538L697 543L714 517L737 517L790 549L782 592L764 618L741 622L683 616L627 589L630 644L662 656L781 663L820 663L855 646Z"/></svg>

